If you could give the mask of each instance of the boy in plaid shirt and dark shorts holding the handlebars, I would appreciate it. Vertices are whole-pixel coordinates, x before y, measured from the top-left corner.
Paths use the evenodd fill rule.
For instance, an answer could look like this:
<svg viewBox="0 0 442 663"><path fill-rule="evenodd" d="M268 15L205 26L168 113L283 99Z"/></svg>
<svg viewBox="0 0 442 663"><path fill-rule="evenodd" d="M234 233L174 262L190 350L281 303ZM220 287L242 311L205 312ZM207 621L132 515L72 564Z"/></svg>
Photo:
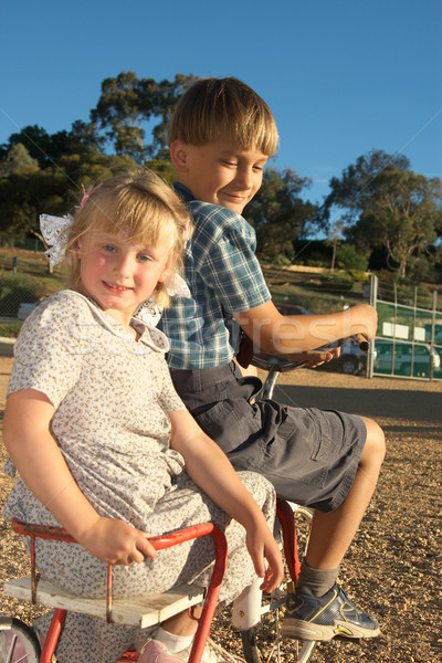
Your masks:
<svg viewBox="0 0 442 663"><path fill-rule="evenodd" d="M352 334L373 338L376 312L357 305L333 315L283 317L273 305L254 255L254 231L240 215L277 146L273 115L253 90L231 77L194 83L177 105L169 146L176 189L194 222L185 264L192 297L175 299L159 325L170 339L175 387L236 470L264 474L280 497L315 509L283 634L378 635L376 620L336 579L377 483L383 433L356 415L255 402L260 381L242 377L232 361L229 320L261 351L288 357Z"/></svg>

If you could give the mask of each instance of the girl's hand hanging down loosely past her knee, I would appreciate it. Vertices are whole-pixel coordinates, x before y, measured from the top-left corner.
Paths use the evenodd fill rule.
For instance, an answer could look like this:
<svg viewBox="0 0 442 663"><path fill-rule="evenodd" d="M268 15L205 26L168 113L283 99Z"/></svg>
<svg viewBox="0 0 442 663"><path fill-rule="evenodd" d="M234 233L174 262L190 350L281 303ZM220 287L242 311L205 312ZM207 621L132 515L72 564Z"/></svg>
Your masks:
<svg viewBox="0 0 442 663"><path fill-rule="evenodd" d="M284 576L283 559L267 524L250 528L245 544L259 578L264 578L260 589L270 593L281 585Z"/></svg>

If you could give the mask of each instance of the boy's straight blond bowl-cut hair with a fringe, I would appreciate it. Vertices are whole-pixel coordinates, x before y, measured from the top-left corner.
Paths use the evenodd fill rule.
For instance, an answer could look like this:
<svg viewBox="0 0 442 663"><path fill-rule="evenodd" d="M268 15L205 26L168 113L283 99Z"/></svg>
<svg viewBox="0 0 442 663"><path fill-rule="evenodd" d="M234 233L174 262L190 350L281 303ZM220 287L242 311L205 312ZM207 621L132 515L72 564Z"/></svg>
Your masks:
<svg viewBox="0 0 442 663"><path fill-rule="evenodd" d="M256 147L273 156L276 123L267 104L245 83L231 76L200 78L179 99L169 124L168 144L207 145L232 140L241 149Z"/></svg>

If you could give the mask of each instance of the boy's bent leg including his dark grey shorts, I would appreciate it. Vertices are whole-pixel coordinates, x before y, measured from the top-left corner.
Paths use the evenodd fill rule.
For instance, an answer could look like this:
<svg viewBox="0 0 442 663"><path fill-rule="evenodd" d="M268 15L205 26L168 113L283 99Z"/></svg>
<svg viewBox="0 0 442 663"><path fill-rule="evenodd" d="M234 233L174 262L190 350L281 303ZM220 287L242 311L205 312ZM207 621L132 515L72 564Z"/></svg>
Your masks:
<svg viewBox="0 0 442 663"><path fill-rule="evenodd" d="M315 603L315 591L328 593L332 587L330 596L339 600L338 610L346 603L356 619L364 618L365 627L357 635L355 629L355 636L377 634L376 621L346 597L338 597L335 581L376 486L385 453L381 429L370 420L343 412L290 408L274 401L253 404L249 383L253 378L239 377L232 366L231 370L172 371L172 379L200 427L223 449L235 470L260 472L280 497L318 509L299 590L294 596L303 593L304 585L304 594L309 591ZM293 601L288 600L288 614L291 607ZM299 610L299 606L295 608ZM320 611L323 619L327 617L324 602ZM311 620L311 612L301 614L301 621ZM316 612L313 610L313 617ZM312 639L333 636L333 622L325 634L316 632Z"/></svg>

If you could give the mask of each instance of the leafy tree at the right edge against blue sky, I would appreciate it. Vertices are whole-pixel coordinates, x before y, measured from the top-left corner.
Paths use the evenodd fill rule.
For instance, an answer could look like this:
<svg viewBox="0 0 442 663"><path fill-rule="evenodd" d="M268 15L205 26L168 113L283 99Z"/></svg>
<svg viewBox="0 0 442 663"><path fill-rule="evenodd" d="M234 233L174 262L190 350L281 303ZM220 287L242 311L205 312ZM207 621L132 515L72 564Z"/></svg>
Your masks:
<svg viewBox="0 0 442 663"><path fill-rule="evenodd" d="M383 248L389 269L406 276L418 255L428 255L441 225L442 192L438 178L410 170L409 160L371 150L330 180L322 215L343 212L346 235L361 250Z"/></svg>

